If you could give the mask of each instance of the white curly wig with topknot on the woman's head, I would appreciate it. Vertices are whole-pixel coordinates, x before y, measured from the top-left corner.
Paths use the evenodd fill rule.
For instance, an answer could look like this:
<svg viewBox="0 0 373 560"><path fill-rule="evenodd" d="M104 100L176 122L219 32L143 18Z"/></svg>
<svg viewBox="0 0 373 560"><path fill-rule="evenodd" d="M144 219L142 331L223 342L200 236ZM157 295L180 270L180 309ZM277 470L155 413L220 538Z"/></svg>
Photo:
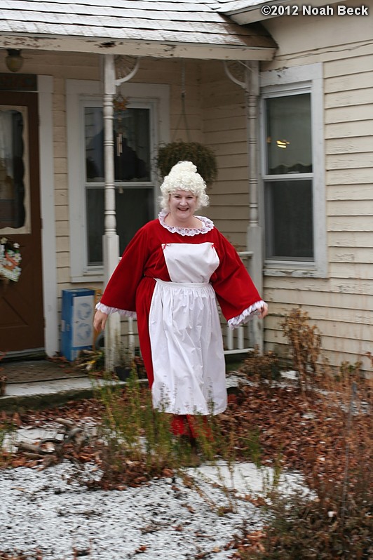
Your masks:
<svg viewBox="0 0 373 560"><path fill-rule="evenodd" d="M179 161L165 176L161 185L162 196L160 198L163 210L170 209L168 206L170 194L179 190L193 193L197 197L197 208L208 206L208 195L205 193L206 183L197 173L197 168L191 161Z"/></svg>

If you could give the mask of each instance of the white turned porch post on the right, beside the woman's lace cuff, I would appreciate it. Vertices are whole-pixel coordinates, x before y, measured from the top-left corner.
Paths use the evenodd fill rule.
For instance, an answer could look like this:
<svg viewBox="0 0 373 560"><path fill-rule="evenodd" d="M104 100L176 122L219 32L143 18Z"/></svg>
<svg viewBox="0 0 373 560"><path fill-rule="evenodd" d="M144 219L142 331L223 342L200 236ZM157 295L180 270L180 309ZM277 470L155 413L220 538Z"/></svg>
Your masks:
<svg viewBox="0 0 373 560"><path fill-rule="evenodd" d="M247 227L247 248L252 251L250 276L260 295L263 297L263 236L259 226L258 194L258 98L259 98L259 62L250 61L246 69L246 111L247 111L247 155L249 166L250 219ZM263 321L251 321L252 340L263 352Z"/></svg>

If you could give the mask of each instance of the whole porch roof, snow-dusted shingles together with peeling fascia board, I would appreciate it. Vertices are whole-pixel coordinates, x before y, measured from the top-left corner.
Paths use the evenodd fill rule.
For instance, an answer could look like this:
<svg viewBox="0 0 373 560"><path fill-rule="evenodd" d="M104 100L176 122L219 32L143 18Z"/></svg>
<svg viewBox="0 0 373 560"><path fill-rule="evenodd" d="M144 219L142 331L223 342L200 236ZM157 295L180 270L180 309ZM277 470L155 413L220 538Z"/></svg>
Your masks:
<svg viewBox="0 0 373 560"><path fill-rule="evenodd" d="M157 58L271 60L260 24L238 25L215 0L1 0L0 48Z"/></svg>

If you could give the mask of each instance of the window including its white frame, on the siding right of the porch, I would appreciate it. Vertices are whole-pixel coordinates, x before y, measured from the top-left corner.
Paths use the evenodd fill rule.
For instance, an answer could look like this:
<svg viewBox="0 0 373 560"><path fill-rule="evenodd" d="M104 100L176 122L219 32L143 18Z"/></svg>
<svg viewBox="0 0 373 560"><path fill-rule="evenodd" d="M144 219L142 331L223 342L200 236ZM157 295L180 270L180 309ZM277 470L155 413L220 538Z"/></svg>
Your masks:
<svg viewBox="0 0 373 560"><path fill-rule="evenodd" d="M325 275L321 65L264 72L262 180L266 272Z"/></svg>

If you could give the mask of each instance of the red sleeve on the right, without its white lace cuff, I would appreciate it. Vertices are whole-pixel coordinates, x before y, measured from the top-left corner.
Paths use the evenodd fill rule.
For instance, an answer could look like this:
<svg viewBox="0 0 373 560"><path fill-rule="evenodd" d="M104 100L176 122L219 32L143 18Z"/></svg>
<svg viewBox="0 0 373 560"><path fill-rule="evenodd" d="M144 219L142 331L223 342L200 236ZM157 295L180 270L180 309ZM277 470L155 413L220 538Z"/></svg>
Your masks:
<svg viewBox="0 0 373 560"><path fill-rule="evenodd" d="M220 260L211 284L226 320L239 316L250 305L262 300L236 249L220 232L215 246Z"/></svg>

